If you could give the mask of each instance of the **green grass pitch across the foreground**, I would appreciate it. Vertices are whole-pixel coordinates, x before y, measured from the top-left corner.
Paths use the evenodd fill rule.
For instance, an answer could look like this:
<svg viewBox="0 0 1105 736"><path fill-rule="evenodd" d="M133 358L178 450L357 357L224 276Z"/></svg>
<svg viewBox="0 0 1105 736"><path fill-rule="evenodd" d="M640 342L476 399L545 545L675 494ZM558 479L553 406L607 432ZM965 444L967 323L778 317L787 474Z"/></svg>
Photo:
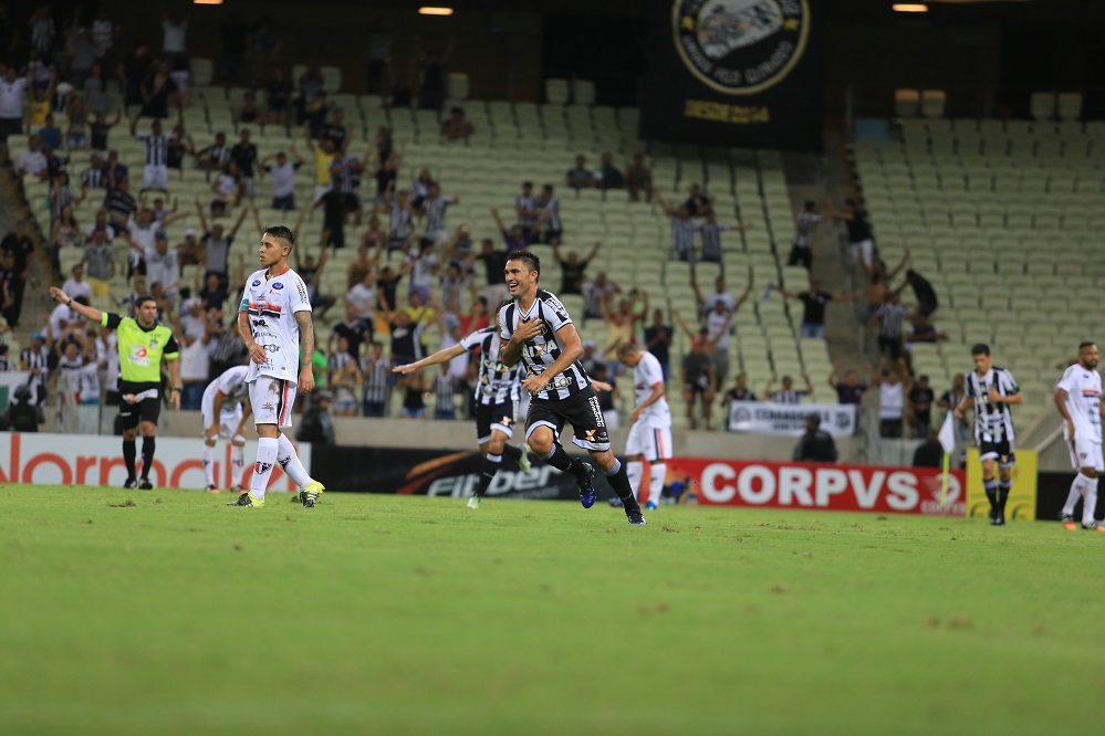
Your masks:
<svg viewBox="0 0 1105 736"><path fill-rule="evenodd" d="M1008 735L1101 717L1105 535L229 500L0 488L0 733Z"/></svg>

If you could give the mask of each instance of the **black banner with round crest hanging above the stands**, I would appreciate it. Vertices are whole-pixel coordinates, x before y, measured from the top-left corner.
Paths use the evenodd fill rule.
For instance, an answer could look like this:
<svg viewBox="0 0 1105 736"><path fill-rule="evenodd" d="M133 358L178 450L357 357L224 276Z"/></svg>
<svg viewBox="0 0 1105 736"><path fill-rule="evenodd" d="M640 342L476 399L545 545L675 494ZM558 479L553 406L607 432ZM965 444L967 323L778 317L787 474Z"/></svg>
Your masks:
<svg viewBox="0 0 1105 736"><path fill-rule="evenodd" d="M649 0L640 137L820 150L828 0Z"/></svg>

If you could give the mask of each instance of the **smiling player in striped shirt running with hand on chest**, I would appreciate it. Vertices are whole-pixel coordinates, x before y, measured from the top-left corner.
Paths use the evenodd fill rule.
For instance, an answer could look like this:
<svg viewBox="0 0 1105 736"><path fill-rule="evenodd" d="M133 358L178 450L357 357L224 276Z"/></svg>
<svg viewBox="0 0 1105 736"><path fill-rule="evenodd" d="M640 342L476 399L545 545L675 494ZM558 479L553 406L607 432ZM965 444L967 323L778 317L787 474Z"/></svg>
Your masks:
<svg viewBox="0 0 1105 736"><path fill-rule="evenodd" d="M572 441L587 450L606 473L629 524L644 524L625 467L611 452L598 396L580 364L580 334L560 299L538 288L540 273L536 255L511 253L504 275L512 299L499 309L499 337L507 340L500 357L507 366L522 364L527 372L522 388L533 396L525 417L527 442L550 465L575 476L580 502L591 508L596 497L594 467L569 455L557 441L564 423L571 422Z"/></svg>

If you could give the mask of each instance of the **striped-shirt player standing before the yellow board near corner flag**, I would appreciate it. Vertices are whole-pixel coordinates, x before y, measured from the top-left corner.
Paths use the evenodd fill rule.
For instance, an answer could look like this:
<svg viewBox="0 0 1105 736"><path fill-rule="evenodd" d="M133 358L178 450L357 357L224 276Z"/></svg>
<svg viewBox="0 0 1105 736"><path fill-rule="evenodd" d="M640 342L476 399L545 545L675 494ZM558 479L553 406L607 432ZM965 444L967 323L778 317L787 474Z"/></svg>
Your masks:
<svg viewBox="0 0 1105 736"><path fill-rule="evenodd" d="M1005 502L1012 487L1011 473L1017 464L1013 452L1013 416L1010 404L1023 403L1024 397L1013 375L993 365L990 346L978 343L971 346L974 370L963 376L967 386L962 401L956 404L956 419L963 418L967 407L974 403L974 441L982 461L982 488L990 500L990 524L1005 525ZM998 476L993 464L998 461Z"/></svg>

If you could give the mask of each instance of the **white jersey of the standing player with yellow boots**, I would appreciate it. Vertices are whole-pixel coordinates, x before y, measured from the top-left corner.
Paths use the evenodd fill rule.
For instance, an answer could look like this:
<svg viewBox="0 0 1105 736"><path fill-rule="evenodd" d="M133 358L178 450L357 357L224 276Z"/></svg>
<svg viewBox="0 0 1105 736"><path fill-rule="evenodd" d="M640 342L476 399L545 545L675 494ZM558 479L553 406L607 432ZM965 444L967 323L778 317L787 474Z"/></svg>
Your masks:
<svg viewBox="0 0 1105 736"><path fill-rule="evenodd" d="M239 312L249 314L253 340L264 348L264 362L250 360L247 382L269 376L296 383L300 365L300 327L296 312L311 312L311 297L298 273L284 269L269 278L268 270L246 280ZM256 410L256 408L254 408Z"/></svg>

